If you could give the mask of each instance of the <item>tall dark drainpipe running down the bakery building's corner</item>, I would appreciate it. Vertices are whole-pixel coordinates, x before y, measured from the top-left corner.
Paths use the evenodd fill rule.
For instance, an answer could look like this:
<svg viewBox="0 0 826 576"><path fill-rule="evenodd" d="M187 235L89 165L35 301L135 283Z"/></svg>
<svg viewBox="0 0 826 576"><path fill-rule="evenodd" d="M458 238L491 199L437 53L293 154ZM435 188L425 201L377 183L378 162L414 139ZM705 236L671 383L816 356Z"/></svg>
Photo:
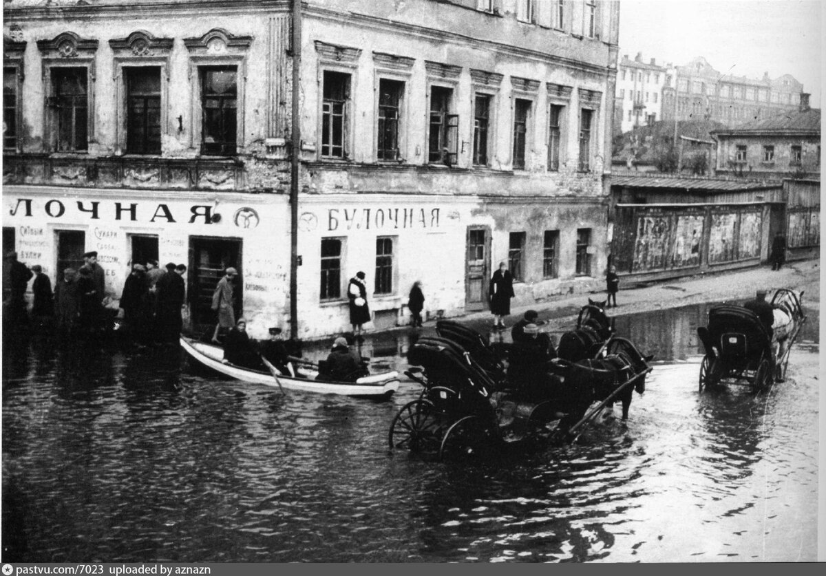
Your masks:
<svg viewBox="0 0 826 576"><path fill-rule="evenodd" d="M301 0L292 0L292 154L290 157L290 338L298 338L298 161L301 156Z"/></svg>

